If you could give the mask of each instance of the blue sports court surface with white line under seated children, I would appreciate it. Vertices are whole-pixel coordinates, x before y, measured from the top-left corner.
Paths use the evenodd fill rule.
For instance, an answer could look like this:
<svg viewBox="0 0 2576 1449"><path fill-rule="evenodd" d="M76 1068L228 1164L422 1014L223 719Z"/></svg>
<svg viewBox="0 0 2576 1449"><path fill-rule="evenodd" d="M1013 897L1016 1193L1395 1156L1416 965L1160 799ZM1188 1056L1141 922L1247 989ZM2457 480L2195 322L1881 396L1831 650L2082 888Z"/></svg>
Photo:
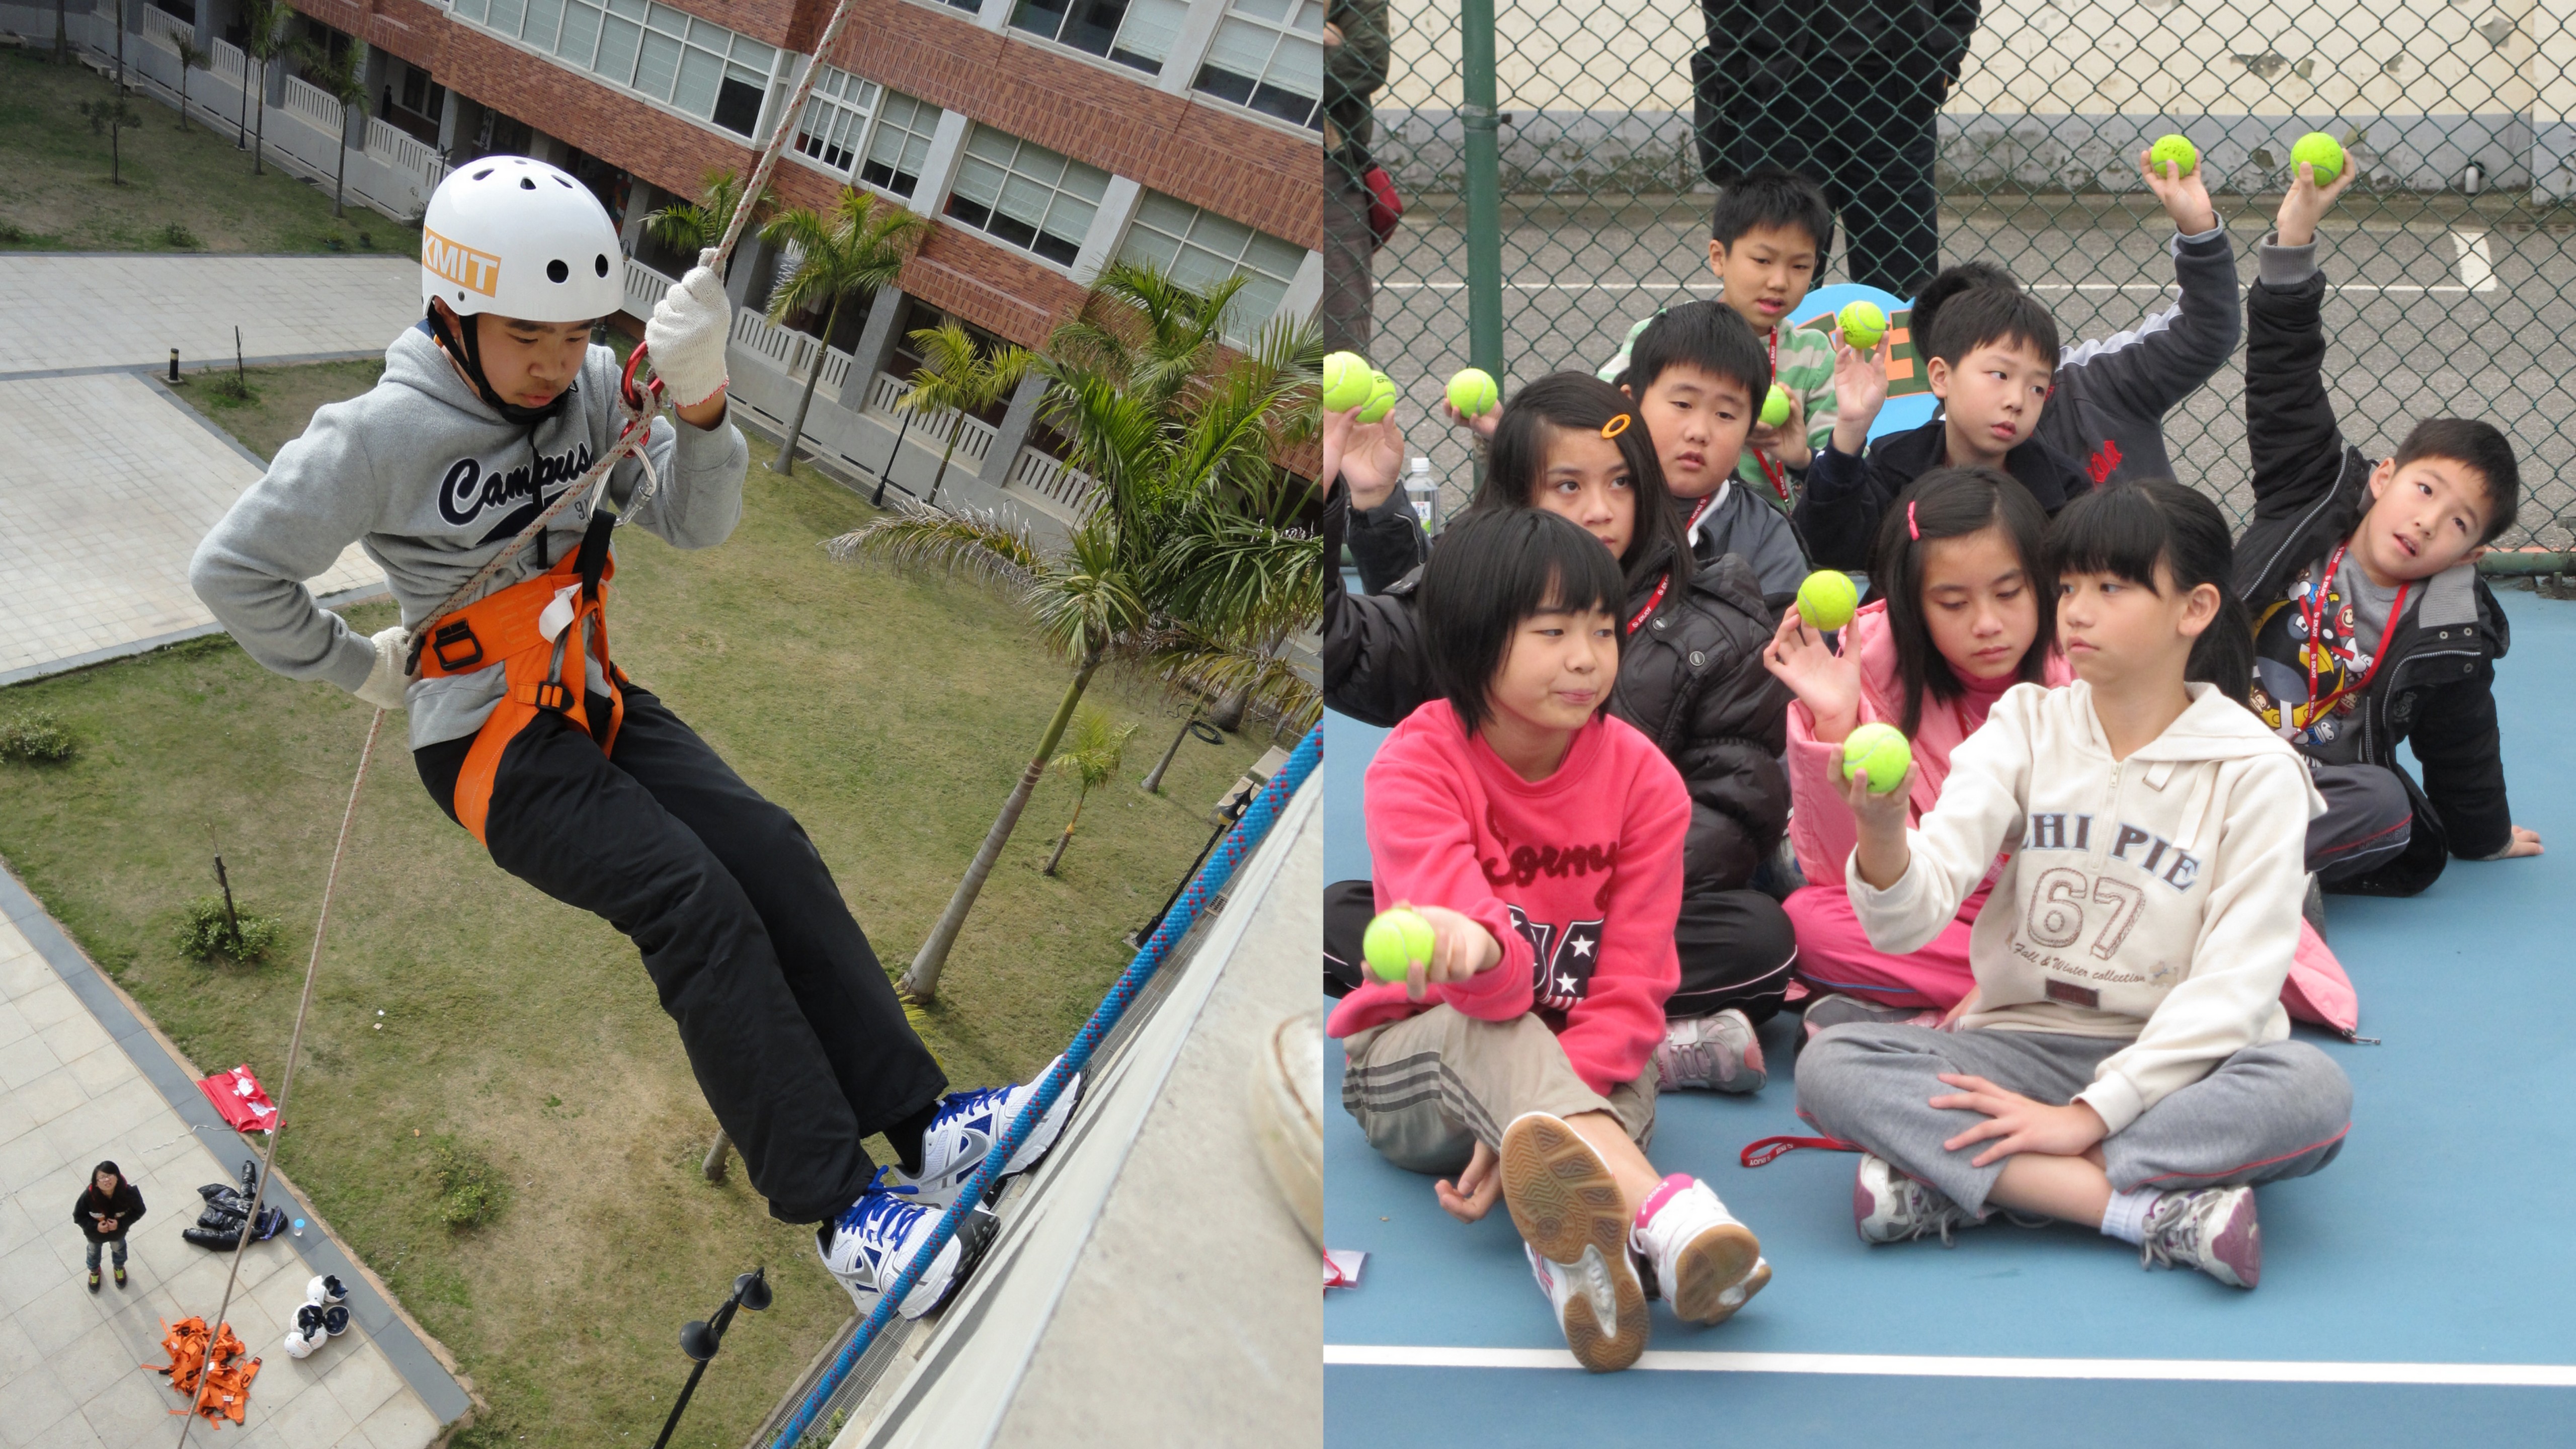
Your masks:
<svg viewBox="0 0 2576 1449"><path fill-rule="evenodd" d="M2452 861L2414 900L2329 897L2362 998L2344 1044L2352 1137L2324 1173L2262 1189L2254 1292L2141 1271L2074 1227L1996 1222L1868 1248L1852 1155L1736 1152L1793 1114L1790 1024L1752 1098L1667 1093L1651 1158L1708 1178L1772 1284L1718 1328L1656 1305L1638 1369L1584 1374L1497 1207L1450 1220L1430 1178L1378 1160L1327 1049L1324 1222L1368 1250L1324 1294L1327 1444L2571 1444L2576 1441L2576 603L2499 590L2514 820L2545 856ZM1368 874L1360 773L1381 732L1327 719L1324 879ZM1672 1439L1680 1441L1680 1439Z"/></svg>

